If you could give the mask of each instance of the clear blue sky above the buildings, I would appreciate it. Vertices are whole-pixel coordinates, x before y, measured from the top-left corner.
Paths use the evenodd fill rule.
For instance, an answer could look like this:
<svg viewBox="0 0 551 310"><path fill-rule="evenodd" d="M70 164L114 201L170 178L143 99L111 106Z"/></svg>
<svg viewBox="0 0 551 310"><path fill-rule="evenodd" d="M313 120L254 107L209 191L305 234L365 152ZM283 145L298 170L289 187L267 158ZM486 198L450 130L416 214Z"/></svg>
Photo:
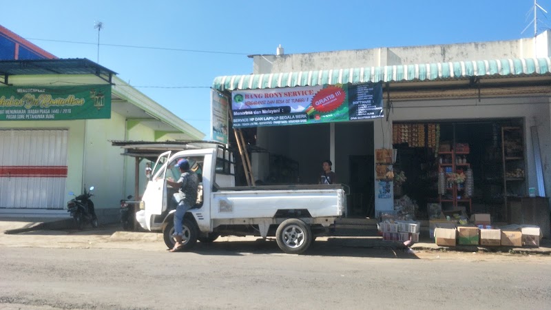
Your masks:
<svg viewBox="0 0 551 310"><path fill-rule="evenodd" d="M538 3L551 10L551 0ZM104 25L101 44L156 48L100 45L99 63L208 138L209 86L219 75L251 73L247 54L275 54L278 44L293 54L531 37L533 26L521 32L533 19L532 6L532 0L29 0L3 1L0 24L60 58L97 60L95 21ZM547 14L539 13L538 25L550 28Z"/></svg>

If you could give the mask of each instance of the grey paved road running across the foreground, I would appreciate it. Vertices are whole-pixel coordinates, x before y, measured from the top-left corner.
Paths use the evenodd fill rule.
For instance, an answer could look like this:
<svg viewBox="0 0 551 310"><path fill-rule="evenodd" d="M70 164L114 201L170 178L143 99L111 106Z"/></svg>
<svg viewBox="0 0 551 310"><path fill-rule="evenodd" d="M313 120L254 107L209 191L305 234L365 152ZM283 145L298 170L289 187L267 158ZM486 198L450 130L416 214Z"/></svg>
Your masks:
<svg viewBox="0 0 551 310"><path fill-rule="evenodd" d="M63 233L0 238L0 309L548 309L550 256L446 252L316 242L309 255L273 241L198 244ZM147 236L147 237L145 237ZM11 236L14 237L14 236ZM3 240L3 241L2 241ZM25 241L26 240L26 241ZM13 240L12 240L13 241ZM136 247L138 245L138 247ZM31 247L30 247L31 246Z"/></svg>

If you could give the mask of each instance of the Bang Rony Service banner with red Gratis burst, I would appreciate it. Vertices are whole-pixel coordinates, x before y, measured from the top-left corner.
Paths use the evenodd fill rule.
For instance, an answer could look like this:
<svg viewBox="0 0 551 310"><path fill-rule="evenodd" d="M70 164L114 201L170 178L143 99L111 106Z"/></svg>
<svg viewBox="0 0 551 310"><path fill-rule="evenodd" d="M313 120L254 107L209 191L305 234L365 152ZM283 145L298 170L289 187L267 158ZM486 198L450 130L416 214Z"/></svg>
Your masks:
<svg viewBox="0 0 551 310"><path fill-rule="evenodd" d="M382 83L238 90L231 96L234 128L383 117Z"/></svg>

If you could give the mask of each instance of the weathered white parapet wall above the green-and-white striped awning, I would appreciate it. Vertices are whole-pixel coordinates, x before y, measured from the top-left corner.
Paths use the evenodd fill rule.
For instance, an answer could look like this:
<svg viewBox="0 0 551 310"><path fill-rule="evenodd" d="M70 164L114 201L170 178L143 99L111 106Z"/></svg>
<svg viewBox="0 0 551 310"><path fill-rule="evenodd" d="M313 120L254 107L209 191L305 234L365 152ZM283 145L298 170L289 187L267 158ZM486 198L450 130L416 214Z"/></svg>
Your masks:
<svg viewBox="0 0 551 310"><path fill-rule="evenodd" d="M444 45L340 50L305 54L255 55L253 74L331 70L343 68L439 63L446 61L531 58L550 55L549 30L534 38L510 41L472 42ZM534 52L534 48L536 51Z"/></svg>

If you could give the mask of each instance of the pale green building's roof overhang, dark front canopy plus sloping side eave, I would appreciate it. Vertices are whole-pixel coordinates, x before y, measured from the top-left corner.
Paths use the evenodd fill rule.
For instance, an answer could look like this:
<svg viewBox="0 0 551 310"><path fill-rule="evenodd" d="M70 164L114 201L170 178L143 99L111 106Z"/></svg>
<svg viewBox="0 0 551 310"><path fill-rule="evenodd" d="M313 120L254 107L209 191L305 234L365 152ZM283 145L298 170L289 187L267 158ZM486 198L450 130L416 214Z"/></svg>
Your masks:
<svg viewBox="0 0 551 310"><path fill-rule="evenodd" d="M125 116L127 126L141 124L155 132L155 138L198 140L205 134L136 90L109 70L88 59L39 59L0 61L0 83L56 85L109 83L112 85L112 110ZM1 85L0 85L1 86Z"/></svg>

